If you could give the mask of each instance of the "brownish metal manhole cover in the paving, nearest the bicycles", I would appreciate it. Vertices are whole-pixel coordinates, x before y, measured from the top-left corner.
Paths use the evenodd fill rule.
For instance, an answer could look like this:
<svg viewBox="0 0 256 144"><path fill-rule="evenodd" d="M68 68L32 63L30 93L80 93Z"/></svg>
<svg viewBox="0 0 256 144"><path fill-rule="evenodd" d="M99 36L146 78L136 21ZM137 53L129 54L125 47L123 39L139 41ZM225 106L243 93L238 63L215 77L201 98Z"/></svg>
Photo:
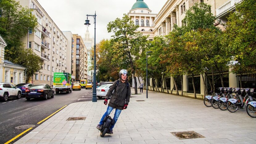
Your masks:
<svg viewBox="0 0 256 144"><path fill-rule="evenodd" d="M201 134L194 131L183 131L183 132L171 132L176 138L187 139L187 138L204 138Z"/></svg>

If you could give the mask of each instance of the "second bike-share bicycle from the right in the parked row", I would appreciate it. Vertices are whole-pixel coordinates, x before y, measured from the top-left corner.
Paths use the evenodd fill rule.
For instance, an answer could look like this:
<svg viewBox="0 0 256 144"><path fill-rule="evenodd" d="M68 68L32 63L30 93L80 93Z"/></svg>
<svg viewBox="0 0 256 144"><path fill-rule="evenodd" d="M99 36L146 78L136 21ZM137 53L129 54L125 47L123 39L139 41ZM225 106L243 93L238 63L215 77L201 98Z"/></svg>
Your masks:
<svg viewBox="0 0 256 144"><path fill-rule="evenodd" d="M231 112L231 113L234 113L239 108L243 108L244 105L247 108L247 103L249 101L256 101L255 98L252 98L252 94L251 93L253 93L253 90L254 90L253 88L252 88L252 90L250 88L236 88L235 92L238 94L238 99L231 98L231 99L228 100L228 103L227 103L228 111ZM242 93L244 93L244 92L245 92L246 95L243 98L242 97ZM250 105L254 106L253 103L250 103ZM250 114L248 114L248 115L250 115Z"/></svg>

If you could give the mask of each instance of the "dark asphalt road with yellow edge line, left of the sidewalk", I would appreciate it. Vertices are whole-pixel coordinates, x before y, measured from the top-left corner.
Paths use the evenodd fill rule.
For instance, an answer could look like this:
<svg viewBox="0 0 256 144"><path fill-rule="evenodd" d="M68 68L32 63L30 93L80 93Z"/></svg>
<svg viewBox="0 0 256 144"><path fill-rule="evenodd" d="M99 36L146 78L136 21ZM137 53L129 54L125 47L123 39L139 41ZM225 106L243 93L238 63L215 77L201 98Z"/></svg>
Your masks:
<svg viewBox="0 0 256 144"><path fill-rule="evenodd" d="M92 89L75 90L72 93L55 93L54 98L48 98L47 100L31 99L27 101L25 97L21 97L20 99L9 99L6 102L0 101L0 143L8 142L26 130L15 129L15 127L20 125L35 125L37 127L40 125L37 124L39 121L42 121L63 106L81 101L92 101ZM11 143L14 143L19 138Z"/></svg>

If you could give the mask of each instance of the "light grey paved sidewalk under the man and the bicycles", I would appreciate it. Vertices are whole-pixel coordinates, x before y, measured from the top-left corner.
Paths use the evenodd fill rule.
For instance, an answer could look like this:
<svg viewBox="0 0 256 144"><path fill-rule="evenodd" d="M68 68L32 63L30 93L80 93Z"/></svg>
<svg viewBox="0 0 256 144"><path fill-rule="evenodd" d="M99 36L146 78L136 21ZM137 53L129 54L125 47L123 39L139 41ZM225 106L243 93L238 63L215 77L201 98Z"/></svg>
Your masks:
<svg viewBox="0 0 256 144"><path fill-rule="evenodd" d="M143 92L131 95L113 135L100 137L96 125L107 106L103 101L90 101L68 105L15 143L256 143L256 119L245 109L230 113L206 107L201 100L170 94L148 91L146 99ZM66 121L69 117L86 119ZM178 139L171 134L180 131L195 131L205 138Z"/></svg>

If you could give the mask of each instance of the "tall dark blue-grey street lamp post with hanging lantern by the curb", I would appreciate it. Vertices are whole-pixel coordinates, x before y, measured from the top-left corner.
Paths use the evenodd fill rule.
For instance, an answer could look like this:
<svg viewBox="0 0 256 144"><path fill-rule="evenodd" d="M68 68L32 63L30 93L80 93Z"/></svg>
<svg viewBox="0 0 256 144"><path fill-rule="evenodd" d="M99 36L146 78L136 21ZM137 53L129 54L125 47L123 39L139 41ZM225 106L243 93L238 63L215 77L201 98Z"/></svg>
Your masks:
<svg viewBox="0 0 256 144"><path fill-rule="evenodd" d="M94 72L93 72L93 102L97 102L96 97L96 11L94 15L86 15L87 19L85 20L85 25L90 25L88 16L91 16L94 18Z"/></svg>

